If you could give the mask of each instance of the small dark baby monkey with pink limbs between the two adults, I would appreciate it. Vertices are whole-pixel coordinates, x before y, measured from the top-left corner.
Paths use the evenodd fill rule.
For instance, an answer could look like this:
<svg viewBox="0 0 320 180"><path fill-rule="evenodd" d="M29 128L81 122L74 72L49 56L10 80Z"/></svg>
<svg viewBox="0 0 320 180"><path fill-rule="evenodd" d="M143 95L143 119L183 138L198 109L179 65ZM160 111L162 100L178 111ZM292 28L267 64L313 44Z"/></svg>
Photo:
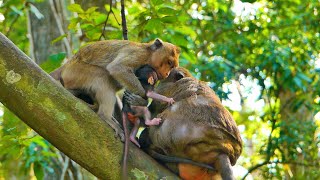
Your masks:
<svg viewBox="0 0 320 180"><path fill-rule="evenodd" d="M144 65L135 71L135 75L139 79L142 87L146 92L146 97L153 100L167 102L172 105L175 101L173 98L168 98L166 96L160 95L153 91L155 83L158 81L157 72L150 66ZM161 123L161 118L151 119L151 113L146 106L133 106L130 105L125 98L122 99L122 120L125 126L127 120L133 123L133 128L130 132L130 141L133 142L140 148L140 144L136 140L136 135L140 127L140 118L144 118L144 124L147 126L159 125ZM126 130L126 127L124 127Z"/></svg>

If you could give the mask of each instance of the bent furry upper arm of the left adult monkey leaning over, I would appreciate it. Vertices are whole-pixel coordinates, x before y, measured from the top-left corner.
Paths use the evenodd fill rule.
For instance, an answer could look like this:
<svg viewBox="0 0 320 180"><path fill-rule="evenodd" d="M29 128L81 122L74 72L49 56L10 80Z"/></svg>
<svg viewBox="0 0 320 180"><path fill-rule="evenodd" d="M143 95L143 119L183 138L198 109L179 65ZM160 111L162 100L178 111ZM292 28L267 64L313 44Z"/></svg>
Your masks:
<svg viewBox="0 0 320 180"><path fill-rule="evenodd" d="M134 60L128 59L127 57L122 59L116 58L107 66L107 70L122 87L134 94L144 97L145 91L134 74L135 63Z"/></svg>

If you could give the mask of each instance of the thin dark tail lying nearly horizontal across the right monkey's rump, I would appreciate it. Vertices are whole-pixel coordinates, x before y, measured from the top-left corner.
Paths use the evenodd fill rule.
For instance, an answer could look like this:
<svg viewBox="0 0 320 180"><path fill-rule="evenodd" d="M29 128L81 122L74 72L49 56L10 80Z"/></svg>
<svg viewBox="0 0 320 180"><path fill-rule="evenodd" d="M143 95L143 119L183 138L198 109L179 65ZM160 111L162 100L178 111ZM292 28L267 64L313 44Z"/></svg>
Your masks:
<svg viewBox="0 0 320 180"><path fill-rule="evenodd" d="M157 153L155 151L151 151L150 155L153 158L155 158L155 159L157 159L159 161L162 161L164 163L186 163L186 164L192 164L192 165L195 165L195 166L207 168L207 169L212 170L212 171L216 170L215 168L213 168L212 166L210 166L208 164L195 162L195 161L192 161L192 160L186 159L186 158L167 156L167 155L159 154L159 153Z"/></svg>

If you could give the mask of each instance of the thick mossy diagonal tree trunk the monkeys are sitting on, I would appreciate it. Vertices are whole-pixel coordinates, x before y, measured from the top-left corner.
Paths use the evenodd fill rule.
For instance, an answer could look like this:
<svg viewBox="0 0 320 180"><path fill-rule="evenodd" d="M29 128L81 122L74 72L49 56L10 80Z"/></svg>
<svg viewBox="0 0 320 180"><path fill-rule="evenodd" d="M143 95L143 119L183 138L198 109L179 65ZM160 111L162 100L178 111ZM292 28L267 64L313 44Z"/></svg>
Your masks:
<svg viewBox="0 0 320 180"><path fill-rule="evenodd" d="M95 176L119 179L123 144L113 130L1 33L0 49L0 101ZM152 179L176 178L139 149L130 149L129 172L136 168Z"/></svg>

